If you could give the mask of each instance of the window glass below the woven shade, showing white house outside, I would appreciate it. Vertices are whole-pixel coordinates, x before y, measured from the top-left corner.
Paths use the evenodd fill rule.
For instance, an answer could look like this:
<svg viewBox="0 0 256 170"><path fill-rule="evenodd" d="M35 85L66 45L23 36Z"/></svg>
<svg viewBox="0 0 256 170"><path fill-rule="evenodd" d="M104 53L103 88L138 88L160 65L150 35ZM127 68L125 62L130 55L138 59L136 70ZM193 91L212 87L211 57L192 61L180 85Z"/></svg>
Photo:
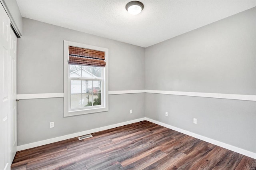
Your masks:
<svg viewBox="0 0 256 170"><path fill-rule="evenodd" d="M102 67L69 65L71 109L101 105Z"/></svg>

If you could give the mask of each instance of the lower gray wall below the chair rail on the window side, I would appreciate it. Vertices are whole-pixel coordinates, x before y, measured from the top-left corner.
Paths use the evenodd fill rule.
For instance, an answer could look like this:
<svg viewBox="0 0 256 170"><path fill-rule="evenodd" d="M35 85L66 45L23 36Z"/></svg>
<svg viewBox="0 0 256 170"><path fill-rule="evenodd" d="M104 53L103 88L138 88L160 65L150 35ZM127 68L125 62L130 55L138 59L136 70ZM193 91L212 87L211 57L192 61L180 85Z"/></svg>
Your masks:
<svg viewBox="0 0 256 170"><path fill-rule="evenodd" d="M108 107L108 112L64 118L63 98L20 100L18 146L145 117L145 94L109 95Z"/></svg>

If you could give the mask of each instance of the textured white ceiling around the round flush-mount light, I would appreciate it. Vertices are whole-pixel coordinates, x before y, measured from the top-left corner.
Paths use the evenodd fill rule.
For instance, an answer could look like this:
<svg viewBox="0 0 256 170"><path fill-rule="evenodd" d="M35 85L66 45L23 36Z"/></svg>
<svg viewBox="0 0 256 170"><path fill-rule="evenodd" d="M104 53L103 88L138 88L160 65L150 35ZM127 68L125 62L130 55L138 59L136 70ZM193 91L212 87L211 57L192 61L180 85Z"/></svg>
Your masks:
<svg viewBox="0 0 256 170"><path fill-rule="evenodd" d="M26 18L126 42L141 47L168 40L256 6L256 0L17 0Z"/></svg>

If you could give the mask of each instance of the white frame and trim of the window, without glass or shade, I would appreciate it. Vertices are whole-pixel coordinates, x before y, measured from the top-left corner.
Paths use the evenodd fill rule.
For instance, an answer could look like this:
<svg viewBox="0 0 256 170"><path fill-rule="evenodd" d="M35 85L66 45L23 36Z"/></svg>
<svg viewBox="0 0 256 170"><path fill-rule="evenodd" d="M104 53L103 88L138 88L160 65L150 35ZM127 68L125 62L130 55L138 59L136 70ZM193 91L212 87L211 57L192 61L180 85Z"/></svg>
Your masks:
<svg viewBox="0 0 256 170"><path fill-rule="evenodd" d="M86 49L94 49L97 51L104 51L105 52L105 62L106 66L103 67L103 82L102 82L102 91L101 91L101 97L102 97L102 105L95 106L95 107L82 107L78 109L71 109L71 102L70 102L70 80L74 79L74 77L69 77L69 64L68 64L68 57L69 57L69 51L68 46L73 47L81 47ZM64 41L63 42L63 88L64 88L64 117L69 116L75 116L75 115L84 115L84 114L90 114L90 113L98 113L98 112L104 112L108 111L108 49L97 47L93 45L87 45L82 43L76 43L76 42L70 42L70 41ZM79 78L77 78L79 79Z"/></svg>

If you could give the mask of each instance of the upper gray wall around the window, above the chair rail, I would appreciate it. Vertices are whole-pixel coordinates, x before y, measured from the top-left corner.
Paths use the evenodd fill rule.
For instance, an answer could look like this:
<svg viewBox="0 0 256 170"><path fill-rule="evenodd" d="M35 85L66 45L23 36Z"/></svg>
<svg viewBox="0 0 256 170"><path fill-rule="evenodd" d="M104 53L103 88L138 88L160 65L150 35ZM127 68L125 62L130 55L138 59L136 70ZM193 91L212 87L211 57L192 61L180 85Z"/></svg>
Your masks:
<svg viewBox="0 0 256 170"><path fill-rule="evenodd" d="M145 89L145 49L23 19L18 39L17 92L63 93L63 40L109 49L109 91Z"/></svg>

